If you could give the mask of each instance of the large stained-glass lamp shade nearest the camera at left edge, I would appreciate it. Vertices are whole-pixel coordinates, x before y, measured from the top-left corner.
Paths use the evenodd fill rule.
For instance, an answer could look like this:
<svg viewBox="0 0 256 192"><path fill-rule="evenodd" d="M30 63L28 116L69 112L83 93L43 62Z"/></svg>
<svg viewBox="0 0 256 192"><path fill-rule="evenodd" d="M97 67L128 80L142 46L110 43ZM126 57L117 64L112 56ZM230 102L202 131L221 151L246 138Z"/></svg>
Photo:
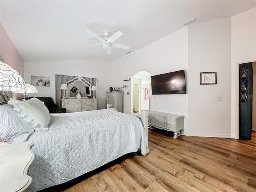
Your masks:
<svg viewBox="0 0 256 192"><path fill-rule="evenodd" d="M8 64L0 61L0 90L21 92L26 90L22 76Z"/></svg>

